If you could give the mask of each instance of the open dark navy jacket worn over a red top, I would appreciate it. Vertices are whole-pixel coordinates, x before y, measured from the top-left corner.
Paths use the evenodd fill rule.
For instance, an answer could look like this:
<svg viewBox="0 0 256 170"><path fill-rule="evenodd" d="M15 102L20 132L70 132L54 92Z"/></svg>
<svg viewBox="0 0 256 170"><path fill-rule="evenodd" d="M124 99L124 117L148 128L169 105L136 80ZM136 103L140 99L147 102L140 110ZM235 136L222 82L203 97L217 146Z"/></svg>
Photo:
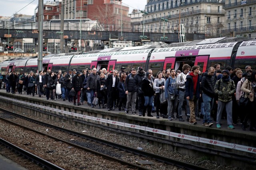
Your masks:
<svg viewBox="0 0 256 170"><path fill-rule="evenodd" d="M189 96L189 100L193 99L193 94L194 94L194 82L192 76L189 74L187 76L187 81L185 83L185 95L186 97ZM197 84L196 84L196 98L200 98L200 82L201 82L201 75L198 74L197 78Z"/></svg>

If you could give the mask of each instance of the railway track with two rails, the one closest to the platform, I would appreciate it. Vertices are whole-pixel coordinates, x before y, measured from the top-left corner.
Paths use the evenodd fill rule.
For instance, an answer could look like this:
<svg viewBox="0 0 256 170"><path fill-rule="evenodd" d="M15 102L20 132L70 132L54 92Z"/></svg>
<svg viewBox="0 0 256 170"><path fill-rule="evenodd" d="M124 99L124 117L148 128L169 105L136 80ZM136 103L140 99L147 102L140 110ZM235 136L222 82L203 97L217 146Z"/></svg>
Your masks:
<svg viewBox="0 0 256 170"><path fill-rule="evenodd" d="M29 121L29 123L26 123L26 127L23 128L28 128L30 130L33 129L33 131L40 131L38 133L41 133L42 135L47 135L55 140L62 141L63 143L68 143L68 145L72 145L74 147L86 149L89 152L97 152L97 154L100 154L103 157L111 156L111 159L119 159L119 161L122 162L122 164L127 164L137 169L158 169L159 167L161 167L161 169L170 169L170 166L174 166L175 168L191 170L205 169L200 166L188 164L186 162L166 158L163 156L145 152L143 150L126 147L124 145L91 137L82 133L65 129L63 127L50 125L41 121L31 119L29 117L25 117L20 114L6 111L4 109L1 109L1 111L4 111L4 113L1 114L1 119L3 119L2 117L6 117L6 119L3 119L5 121L9 121L9 119L12 119L12 121L15 120L14 122L17 122L17 125L18 123L23 122L21 121L21 119ZM25 123L23 122L23 124ZM47 129L48 131L46 131L45 129ZM67 136L67 134L69 135ZM123 160L125 158L128 159ZM136 164L140 164L141 166Z"/></svg>

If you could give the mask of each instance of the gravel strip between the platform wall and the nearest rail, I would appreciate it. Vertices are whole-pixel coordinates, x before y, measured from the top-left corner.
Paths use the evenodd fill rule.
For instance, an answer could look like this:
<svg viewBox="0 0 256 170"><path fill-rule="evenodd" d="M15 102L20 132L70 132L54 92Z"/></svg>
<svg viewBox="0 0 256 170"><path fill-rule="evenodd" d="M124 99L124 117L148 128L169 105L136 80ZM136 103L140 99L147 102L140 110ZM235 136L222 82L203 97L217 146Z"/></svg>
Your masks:
<svg viewBox="0 0 256 170"><path fill-rule="evenodd" d="M28 113L22 113L22 112L13 110L13 109L10 110L10 108L3 107L3 109L8 109L9 111L14 111L15 113L20 113L20 114L25 115L27 117L31 117L31 118L37 119L39 121L44 121L46 123L56 125L56 126L59 126L59 127L64 126L66 129L70 129L70 130L77 131L77 132L80 132L80 133L85 133L86 135L98 137L98 138L108 140L108 141L112 141L112 142L115 142L115 143L120 143L120 144L126 145L128 147L134 147L134 148L142 147L143 150L146 151L146 152L159 154L161 156L166 156L168 158L174 158L176 160L185 161L185 162L195 164L195 165L198 165L198 166L202 166L202 167L205 167L205 168L209 168L209 169L212 169L212 170L240 170L240 168L237 168L237 167L218 164L217 162L208 160L205 157L196 158L196 157L193 157L193 156L180 154L179 152L176 152L176 151L167 150L167 149L164 149L164 148L161 148L161 147L159 148L159 147L156 147L154 145L151 145L150 143L144 143L142 141L134 139L134 137L128 137L128 136L124 136L122 134L117 134L117 133L108 132L108 131L100 131L100 130L96 130L96 129L90 129L88 127L80 127L80 126L76 126L76 125L72 125L72 124L68 124L68 123L63 123L63 122L56 122L56 121L53 121L53 120L44 119L42 117L35 117L35 116L30 115Z"/></svg>

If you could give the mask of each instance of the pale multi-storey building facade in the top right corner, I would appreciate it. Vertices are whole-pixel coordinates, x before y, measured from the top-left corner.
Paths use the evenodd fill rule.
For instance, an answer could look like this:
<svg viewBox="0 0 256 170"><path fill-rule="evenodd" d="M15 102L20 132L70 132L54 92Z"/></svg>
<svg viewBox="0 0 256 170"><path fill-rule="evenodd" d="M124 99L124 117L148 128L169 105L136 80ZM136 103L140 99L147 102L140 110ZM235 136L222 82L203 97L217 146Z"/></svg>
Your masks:
<svg viewBox="0 0 256 170"><path fill-rule="evenodd" d="M256 38L256 0L226 0L225 28L232 37Z"/></svg>

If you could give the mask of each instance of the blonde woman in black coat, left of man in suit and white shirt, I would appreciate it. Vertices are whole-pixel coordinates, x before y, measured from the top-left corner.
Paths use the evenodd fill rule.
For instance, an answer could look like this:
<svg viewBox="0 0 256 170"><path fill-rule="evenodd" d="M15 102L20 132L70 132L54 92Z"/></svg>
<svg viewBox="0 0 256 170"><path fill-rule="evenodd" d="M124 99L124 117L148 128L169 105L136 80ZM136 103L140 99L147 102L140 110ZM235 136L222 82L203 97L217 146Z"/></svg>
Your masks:
<svg viewBox="0 0 256 170"><path fill-rule="evenodd" d="M101 73L100 78L97 80L97 86L95 90L95 94L97 94L99 99L99 109L101 108L100 107L101 104L102 104L102 108L105 108L104 101L106 99L106 94L107 94L107 89L104 88L105 82L106 82L105 74Z"/></svg>

